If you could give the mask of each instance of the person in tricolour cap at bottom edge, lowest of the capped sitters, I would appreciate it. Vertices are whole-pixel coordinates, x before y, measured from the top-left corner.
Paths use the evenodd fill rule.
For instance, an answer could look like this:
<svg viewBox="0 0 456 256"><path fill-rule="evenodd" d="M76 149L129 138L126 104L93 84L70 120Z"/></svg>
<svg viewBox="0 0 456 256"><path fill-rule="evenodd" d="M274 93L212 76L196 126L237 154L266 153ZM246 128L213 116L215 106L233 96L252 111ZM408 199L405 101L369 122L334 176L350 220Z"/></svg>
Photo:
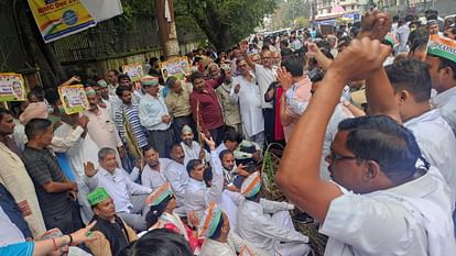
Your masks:
<svg viewBox="0 0 456 256"><path fill-rule="evenodd" d="M203 244L200 256L270 255L232 232L227 214L215 202L206 209L200 220L199 230L200 235L207 237Z"/></svg>

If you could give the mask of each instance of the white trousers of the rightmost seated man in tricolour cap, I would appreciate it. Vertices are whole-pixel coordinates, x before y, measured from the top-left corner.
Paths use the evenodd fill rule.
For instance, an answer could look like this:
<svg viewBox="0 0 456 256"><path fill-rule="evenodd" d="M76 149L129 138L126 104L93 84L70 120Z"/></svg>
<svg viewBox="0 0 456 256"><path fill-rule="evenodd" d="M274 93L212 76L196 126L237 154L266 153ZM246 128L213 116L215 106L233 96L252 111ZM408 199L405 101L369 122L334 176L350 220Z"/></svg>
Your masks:
<svg viewBox="0 0 456 256"><path fill-rule="evenodd" d="M293 221L289 211L275 212L271 219L284 230L294 231ZM305 256L311 252L311 246L300 242L281 243L274 251L275 256Z"/></svg>

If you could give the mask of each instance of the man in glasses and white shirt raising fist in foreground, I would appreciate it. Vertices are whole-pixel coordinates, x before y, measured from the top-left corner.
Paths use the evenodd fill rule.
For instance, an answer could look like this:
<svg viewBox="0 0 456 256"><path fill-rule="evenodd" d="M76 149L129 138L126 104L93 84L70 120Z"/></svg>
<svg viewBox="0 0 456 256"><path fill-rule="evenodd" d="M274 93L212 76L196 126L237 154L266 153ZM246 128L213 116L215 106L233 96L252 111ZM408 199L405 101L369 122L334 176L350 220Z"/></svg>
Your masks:
<svg viewBox="0 0 456 256"><path fill-rule="evenodd" d="M367 35L388 31L387 14L368 15L362 27L374 31ZM381 31L373 24L382 24ZM382 67L390 52L378 38L363 37L338 54L297 121L275 177L291 201L323 223L319 232L329 237L325 255L456 254L448 187L438 171L420 163L420 146L395 121L400 115L343 121L326 157L335 182L318 175L325 127L344 86L376 78L381 87L368 81L368 94L394 93ZM370 101L369 108L378 103Z"/></svg>

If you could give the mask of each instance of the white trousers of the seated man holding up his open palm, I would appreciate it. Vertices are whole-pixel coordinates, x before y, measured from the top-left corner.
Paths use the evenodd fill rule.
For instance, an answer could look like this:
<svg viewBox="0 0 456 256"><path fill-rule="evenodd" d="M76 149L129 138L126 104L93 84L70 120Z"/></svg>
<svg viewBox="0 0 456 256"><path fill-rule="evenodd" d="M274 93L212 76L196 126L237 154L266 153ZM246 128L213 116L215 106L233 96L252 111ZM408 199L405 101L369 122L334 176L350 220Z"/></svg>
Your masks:
<svg viewBox="0 0 456 256"><path fill-rule="evenodd" d="M130 212L118 212L117 214L134 230L141 232L149 229L145 222L145 214L149 212L149 207L145 205L145 199L149 194L131 196L131 203L133 209Z"/></svg>

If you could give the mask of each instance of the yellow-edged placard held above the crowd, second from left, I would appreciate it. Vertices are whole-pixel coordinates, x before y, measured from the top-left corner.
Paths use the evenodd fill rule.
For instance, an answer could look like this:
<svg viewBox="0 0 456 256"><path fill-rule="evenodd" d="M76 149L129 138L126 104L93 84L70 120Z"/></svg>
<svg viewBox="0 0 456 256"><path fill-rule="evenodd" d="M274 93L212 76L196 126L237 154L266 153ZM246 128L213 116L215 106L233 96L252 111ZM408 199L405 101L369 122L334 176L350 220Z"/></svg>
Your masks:
<svg viewBox="0 0 456 256"><path fill-rule="evenodd" d="M90 107L83 85L58 87L58 97L66 114L79 113Z"/></svg>

